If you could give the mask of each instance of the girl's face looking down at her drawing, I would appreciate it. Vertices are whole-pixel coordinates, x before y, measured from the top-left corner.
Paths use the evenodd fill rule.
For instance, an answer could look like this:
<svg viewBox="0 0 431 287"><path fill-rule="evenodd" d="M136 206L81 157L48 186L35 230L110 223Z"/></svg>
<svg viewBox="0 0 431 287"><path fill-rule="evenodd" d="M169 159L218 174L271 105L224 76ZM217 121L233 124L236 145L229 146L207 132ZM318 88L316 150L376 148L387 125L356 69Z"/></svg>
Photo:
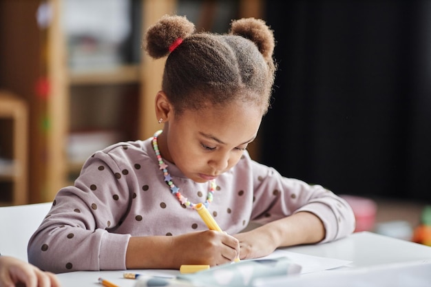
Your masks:
<svg viewBox="0 0 431 287"><path fill-rule="evenodd" d="M250 103L230 107L185 111L169 119L168 151L182 173L196 182L207 182L228 171L252 142L262 120L262 111Z"/></svg>

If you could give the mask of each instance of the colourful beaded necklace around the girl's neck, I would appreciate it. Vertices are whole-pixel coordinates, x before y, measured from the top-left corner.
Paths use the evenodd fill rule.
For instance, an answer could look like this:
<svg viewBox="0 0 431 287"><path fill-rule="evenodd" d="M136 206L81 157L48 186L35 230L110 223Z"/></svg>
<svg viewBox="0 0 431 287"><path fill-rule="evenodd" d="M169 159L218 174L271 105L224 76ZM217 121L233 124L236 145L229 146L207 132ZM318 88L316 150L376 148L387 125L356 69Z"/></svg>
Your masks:
<svg viewBox="0 0 431 287"><path fill-rule="evenodd" d="M158 150L157 138L161 133L162 133L162 130L156 131L156 134L154 134L154 136L153 136L153 149L154 149L154 152L156 153L156 156L157 156L159 169L161 169L163 171L163 176L165 176L165 182L170 187L171 193L174 196L176 196L176 198L180 201L181 204L184 204L186 207L194 209L196 204L194 204L193 202L190 202L187 198L182 196L182 194L179 192L180 189L178 187L176 187L174 182L172 182L172 177L169 174L169 172L167 172L167 164L165 164L165 162L162 160L162 156L160 156L160 151ZM208 207L210 202L213 201L213 193L214 193L216 188L217 188L217 184L215 184L215 180L210 180L207 200L205 200L205 202L203 202L205 207Z"/></svg>

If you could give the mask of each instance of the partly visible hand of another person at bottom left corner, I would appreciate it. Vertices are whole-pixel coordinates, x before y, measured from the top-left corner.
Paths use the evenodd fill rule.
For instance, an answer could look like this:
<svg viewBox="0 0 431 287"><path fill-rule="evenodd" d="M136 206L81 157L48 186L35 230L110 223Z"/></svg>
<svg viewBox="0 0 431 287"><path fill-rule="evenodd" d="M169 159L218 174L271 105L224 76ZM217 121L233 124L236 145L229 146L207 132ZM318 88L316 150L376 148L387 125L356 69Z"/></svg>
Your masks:
<svg viewBox="0 0 431 287"><path fill-rule="evenodd" d="M0 256L0 287L60 287L53 273L44 272L28 262Z"/></svg>

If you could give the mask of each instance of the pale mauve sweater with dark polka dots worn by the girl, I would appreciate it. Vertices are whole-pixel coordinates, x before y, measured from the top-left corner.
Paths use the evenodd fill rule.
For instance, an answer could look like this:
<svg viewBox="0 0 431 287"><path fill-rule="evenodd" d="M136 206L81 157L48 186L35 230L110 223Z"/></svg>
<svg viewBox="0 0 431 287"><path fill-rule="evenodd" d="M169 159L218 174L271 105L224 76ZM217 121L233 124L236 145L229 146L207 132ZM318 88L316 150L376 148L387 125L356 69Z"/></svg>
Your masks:
<svg viewBox="0 0 431 287"><path fill-rule="evenodd" d="M168 164L172 181L193 203L204 202L209 182L196 183ZM319 185L284 178L244 152L216 180L209 211L229 234L249 222L264 224L297 211L324 222L323 242L353 232L350 206ZM131 236L179 235L207 230L198 213L172 195L158 167L151 138L120 142L97 151L83 165L74 186L61 189L28 244L29 262L43 270L125 270Z"/></svg>

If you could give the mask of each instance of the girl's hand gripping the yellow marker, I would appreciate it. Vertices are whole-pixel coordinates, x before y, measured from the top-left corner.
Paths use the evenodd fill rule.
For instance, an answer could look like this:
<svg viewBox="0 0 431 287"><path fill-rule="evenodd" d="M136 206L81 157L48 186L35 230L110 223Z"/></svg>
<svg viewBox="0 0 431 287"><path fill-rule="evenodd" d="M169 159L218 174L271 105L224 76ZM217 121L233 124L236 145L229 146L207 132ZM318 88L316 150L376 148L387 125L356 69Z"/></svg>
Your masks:
<svg viewBox="0 0 431 287"><path fill-rule="evenodd" d="M174 262L216 266L233 262L240 254L238 240L219 231L199 231L173 237Z"/></svg>

